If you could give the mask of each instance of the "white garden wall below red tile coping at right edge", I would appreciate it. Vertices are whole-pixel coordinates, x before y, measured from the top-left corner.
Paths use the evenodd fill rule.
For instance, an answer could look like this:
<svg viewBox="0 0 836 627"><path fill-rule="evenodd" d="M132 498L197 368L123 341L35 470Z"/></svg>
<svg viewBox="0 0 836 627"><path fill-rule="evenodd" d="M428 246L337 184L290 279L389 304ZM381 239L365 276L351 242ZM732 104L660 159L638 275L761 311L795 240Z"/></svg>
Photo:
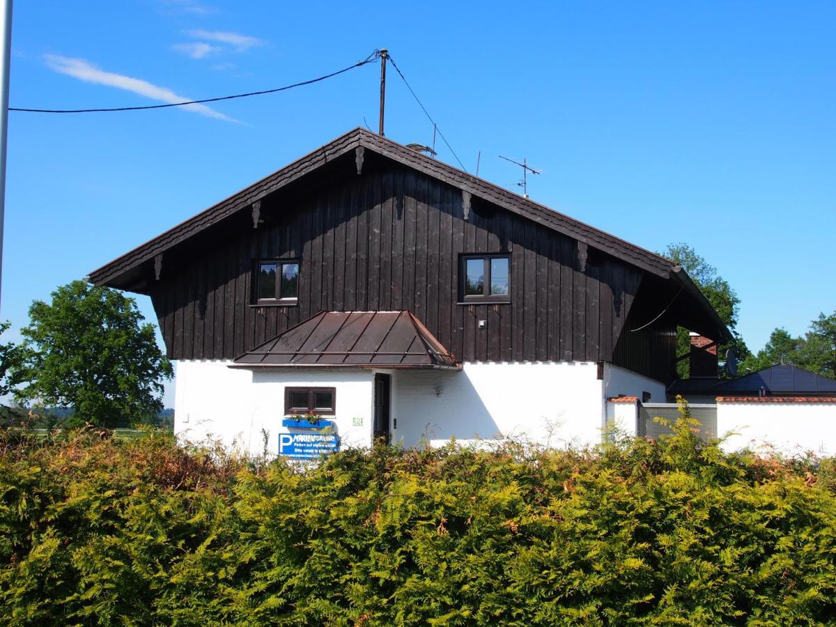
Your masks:
<svg viewBox="0 0 836 627"><path fill-rule="evenodd" d="M836 400L825 403L717 402L717 433L735 431L727 451L752 447L785 455L836 455Z"/></svg>

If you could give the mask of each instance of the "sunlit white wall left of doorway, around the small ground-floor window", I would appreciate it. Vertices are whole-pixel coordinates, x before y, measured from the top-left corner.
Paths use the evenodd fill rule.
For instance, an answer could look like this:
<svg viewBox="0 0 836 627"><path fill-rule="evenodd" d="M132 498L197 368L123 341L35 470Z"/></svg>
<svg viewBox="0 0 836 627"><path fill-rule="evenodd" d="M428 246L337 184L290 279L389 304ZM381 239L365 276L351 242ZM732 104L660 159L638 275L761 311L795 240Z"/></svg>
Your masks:
<svg viewBox="0 0 836 627"><path fill-rule="evenodd" d="M333 420L342 446L371 441L374 372L360 369L245 370L227 361L177 363L175 433L192 442L220 440L253 455L278 453L285 386L335 387ZM362 424L354 425L354 419ZM262 431L263 430L263 431Z"/></svg>

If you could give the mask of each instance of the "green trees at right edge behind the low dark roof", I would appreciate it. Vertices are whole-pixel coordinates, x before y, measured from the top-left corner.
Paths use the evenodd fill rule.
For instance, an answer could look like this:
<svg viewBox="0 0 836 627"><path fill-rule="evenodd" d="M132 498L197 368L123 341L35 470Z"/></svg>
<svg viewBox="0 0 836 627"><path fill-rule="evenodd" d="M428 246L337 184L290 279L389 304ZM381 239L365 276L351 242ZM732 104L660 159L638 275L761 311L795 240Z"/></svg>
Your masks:
<svg viewBox="0 0 836 627"><path fill-rule="evenodd" d="M819 314L807 333L793 337L787 329L775 329L766 346L741 364L742 372L755 372L775 364L790 364L818 375L836 378L836 311Z"/></svg>

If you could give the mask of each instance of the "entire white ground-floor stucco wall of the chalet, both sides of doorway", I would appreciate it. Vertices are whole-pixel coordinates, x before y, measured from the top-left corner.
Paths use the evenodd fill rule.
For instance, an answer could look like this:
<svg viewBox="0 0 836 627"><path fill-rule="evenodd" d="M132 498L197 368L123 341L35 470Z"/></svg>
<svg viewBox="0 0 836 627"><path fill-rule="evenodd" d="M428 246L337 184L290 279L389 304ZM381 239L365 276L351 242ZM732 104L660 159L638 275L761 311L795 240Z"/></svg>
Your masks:
<svg viewBox="0 0 836 627"><path fill-rule="evenodd" d="M178 362L178 435L196 442L220 440L260 455L266 433L267 450L275 454L278 434L288 432L282 426L284 388L328 386L337 390L333 420L342 445L370 445L374 370L246 370L227 364ZM461 371L388 372L392 441L404 446L507 437L545 446L597 444L606 425L608 396L640 397L650 391L655 400L657 395L664 398L665 390L658 381L609 365L604 380L599 380L594 362L466 363ZM614 407L609 413L624 430L635 431L634 405Z"/></svg>

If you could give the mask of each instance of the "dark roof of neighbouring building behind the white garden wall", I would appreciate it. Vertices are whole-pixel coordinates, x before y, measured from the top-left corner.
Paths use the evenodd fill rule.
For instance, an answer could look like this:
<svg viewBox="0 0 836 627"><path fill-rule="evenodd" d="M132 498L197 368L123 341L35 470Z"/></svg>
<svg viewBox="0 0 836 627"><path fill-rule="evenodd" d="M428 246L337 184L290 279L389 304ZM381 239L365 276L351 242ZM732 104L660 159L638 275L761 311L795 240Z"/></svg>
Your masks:
<svg viewBox="0 0 836 627"><path fill-rule="evenodd" d="M670 384L668 393L757 396L761 390L766 395L836 396L836 380L798 366L777 364L737 379L706 377L676 380Z"/></svg>

